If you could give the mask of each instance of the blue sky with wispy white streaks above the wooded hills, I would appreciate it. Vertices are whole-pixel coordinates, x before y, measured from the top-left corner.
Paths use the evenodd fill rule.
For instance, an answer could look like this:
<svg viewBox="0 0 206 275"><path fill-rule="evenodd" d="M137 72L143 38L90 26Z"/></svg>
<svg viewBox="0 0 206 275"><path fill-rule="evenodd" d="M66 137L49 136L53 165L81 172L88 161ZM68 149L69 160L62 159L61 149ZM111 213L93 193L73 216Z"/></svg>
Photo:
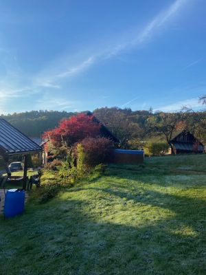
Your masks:
<svg viewBox="0 0 206 275"><path fill-rule="evenodd" d="M0 113L201 108L205 0L0 0Z"/></svg>

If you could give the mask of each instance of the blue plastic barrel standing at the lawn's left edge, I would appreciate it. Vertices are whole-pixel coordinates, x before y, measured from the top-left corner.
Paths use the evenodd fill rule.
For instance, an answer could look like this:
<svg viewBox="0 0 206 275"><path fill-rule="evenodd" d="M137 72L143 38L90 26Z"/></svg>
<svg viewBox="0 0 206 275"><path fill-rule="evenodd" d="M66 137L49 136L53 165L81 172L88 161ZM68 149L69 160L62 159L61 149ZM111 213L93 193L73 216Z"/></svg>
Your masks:
<svg viewBox="0 0 206 275"><path fill-rule="evenodd" d="M10 218L21 214L24 210L25 191L10 189L5 194L4 217Z"/></svg>

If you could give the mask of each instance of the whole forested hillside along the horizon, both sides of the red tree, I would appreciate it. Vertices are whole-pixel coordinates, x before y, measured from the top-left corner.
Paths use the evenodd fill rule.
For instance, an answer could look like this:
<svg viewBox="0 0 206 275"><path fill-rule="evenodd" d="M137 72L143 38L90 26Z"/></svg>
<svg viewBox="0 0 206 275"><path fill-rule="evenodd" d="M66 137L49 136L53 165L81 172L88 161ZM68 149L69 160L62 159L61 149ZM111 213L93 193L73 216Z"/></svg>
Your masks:
<svg viewBox="0 0 206 275"><path fill-rule="evenodd" d="M116 135L125 148L137 148L141 142L161 141L167 143L178 131L188 129L206 144L206 111L194 113L153 113L131 109L100 108L93 114ZM60 120L75 113L66 111L30 111L1 115L17 129L30 137L40 137L44 131L54 129Z"/></svg>

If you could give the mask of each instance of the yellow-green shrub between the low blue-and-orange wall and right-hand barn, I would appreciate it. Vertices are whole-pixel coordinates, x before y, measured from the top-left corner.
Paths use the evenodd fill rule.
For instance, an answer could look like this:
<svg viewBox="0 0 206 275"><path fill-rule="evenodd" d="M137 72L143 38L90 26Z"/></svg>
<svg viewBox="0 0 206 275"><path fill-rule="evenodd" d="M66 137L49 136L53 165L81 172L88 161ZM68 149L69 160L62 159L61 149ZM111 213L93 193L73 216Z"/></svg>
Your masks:
<svg viewBox="0 0 206 275"><path fill-rule="evenodd" d="M168 153L169 144L165 142L147 142L144 145L144 153L146 155L165 155Z"/></svg>

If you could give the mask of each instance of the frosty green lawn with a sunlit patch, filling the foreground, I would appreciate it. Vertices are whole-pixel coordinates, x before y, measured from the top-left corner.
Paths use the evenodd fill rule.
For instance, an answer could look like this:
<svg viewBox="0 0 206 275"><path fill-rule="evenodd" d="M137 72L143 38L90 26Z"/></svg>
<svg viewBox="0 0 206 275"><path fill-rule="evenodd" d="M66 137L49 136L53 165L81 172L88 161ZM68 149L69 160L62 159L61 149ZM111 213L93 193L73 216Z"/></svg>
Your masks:
<svg viewBox="0 0 206 275"><path fill-rule="evenodd" d="M206 274L206 155L110 166L0 218L0 274Z"/></svg>

